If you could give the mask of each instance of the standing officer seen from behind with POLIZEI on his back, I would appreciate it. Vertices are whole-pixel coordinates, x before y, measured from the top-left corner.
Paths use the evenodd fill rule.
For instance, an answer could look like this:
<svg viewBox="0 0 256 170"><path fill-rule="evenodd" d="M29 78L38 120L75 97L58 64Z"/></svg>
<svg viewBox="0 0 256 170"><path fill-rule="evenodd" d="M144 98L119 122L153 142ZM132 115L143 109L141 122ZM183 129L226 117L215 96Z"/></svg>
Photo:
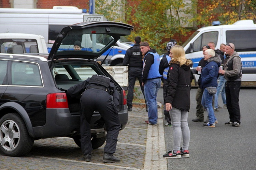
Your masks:
<svg viewBox="0 0 256 170"><path fill-rule="evenodd" d="M128 87L128 94L127 94L128 111L132 111L131 108L132 108L132 99L133 99L133 89L134 89L136 78L138 78L140 82L140 88L144 96L144 87L142 86L142 54L140 51L141 37L136 36L134 40L135 40L135 44L131 48L127 49L125 58L123 61L123 65L124 66L128 65L128 69L129 69L129 72L128 72L129 87Z"/></svg>

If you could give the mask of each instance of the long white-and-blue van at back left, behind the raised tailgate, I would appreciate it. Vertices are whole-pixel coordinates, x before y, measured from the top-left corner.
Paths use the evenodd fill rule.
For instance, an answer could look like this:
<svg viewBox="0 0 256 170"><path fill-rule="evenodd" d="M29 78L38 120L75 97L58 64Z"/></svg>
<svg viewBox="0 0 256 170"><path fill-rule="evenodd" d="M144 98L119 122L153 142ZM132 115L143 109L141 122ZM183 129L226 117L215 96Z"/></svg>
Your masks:
<svg viewBox="0 0 256 170"><path fill-rule="evenodd" d="M75 6L54 6L53 9L0 8L0 33L29 33L42 35L48 52L62 28L86 21L106 21L103 15L89 15ZM131 46L117 41L108 54L108 64L122 65L126 50Z"/></svg>

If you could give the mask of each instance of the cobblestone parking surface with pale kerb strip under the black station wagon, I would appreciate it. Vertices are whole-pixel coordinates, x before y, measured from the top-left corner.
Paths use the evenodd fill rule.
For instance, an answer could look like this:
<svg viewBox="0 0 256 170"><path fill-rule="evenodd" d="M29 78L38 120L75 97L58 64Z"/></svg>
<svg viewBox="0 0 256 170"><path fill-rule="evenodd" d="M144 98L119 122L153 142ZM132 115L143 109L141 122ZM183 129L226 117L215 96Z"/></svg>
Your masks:
<svg viewBox="0 0 256 170"><path fill-rule="evenodd" d="M162 111L158 109L158 126L147 125L145 108L133 107L128 124L120 131L115 156L119 163L102 163L103 146L93 150L91 162L83 161L81 149L73 139L60 137L40 139L23 157L0 155L3 169L167 169Z"/></svg>

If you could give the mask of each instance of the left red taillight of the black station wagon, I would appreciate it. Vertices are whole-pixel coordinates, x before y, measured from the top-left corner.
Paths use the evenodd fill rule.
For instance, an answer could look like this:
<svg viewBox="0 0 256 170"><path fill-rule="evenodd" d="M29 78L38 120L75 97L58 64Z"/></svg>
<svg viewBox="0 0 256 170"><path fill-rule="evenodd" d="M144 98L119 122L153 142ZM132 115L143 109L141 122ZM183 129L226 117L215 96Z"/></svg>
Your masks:
<svg viewBox="0 0 256 170"><path fill-rule="evenodd" d="M66 93L50 93L46 96L46 108L68 108Z"/></svg>

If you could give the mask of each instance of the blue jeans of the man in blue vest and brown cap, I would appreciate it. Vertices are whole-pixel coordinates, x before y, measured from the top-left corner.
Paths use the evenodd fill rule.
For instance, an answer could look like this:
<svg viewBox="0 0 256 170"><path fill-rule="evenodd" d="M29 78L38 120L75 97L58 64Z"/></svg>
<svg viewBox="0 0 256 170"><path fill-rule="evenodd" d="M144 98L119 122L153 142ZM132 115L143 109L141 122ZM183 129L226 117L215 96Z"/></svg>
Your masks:
<svg viewBox="0 0 256 170"><path fill-rule="evenodd" d="M148 108L148 121L152 124L157 124L157 92L161 87L161 79L148 79L144 84L145 99Z"/></svg>

